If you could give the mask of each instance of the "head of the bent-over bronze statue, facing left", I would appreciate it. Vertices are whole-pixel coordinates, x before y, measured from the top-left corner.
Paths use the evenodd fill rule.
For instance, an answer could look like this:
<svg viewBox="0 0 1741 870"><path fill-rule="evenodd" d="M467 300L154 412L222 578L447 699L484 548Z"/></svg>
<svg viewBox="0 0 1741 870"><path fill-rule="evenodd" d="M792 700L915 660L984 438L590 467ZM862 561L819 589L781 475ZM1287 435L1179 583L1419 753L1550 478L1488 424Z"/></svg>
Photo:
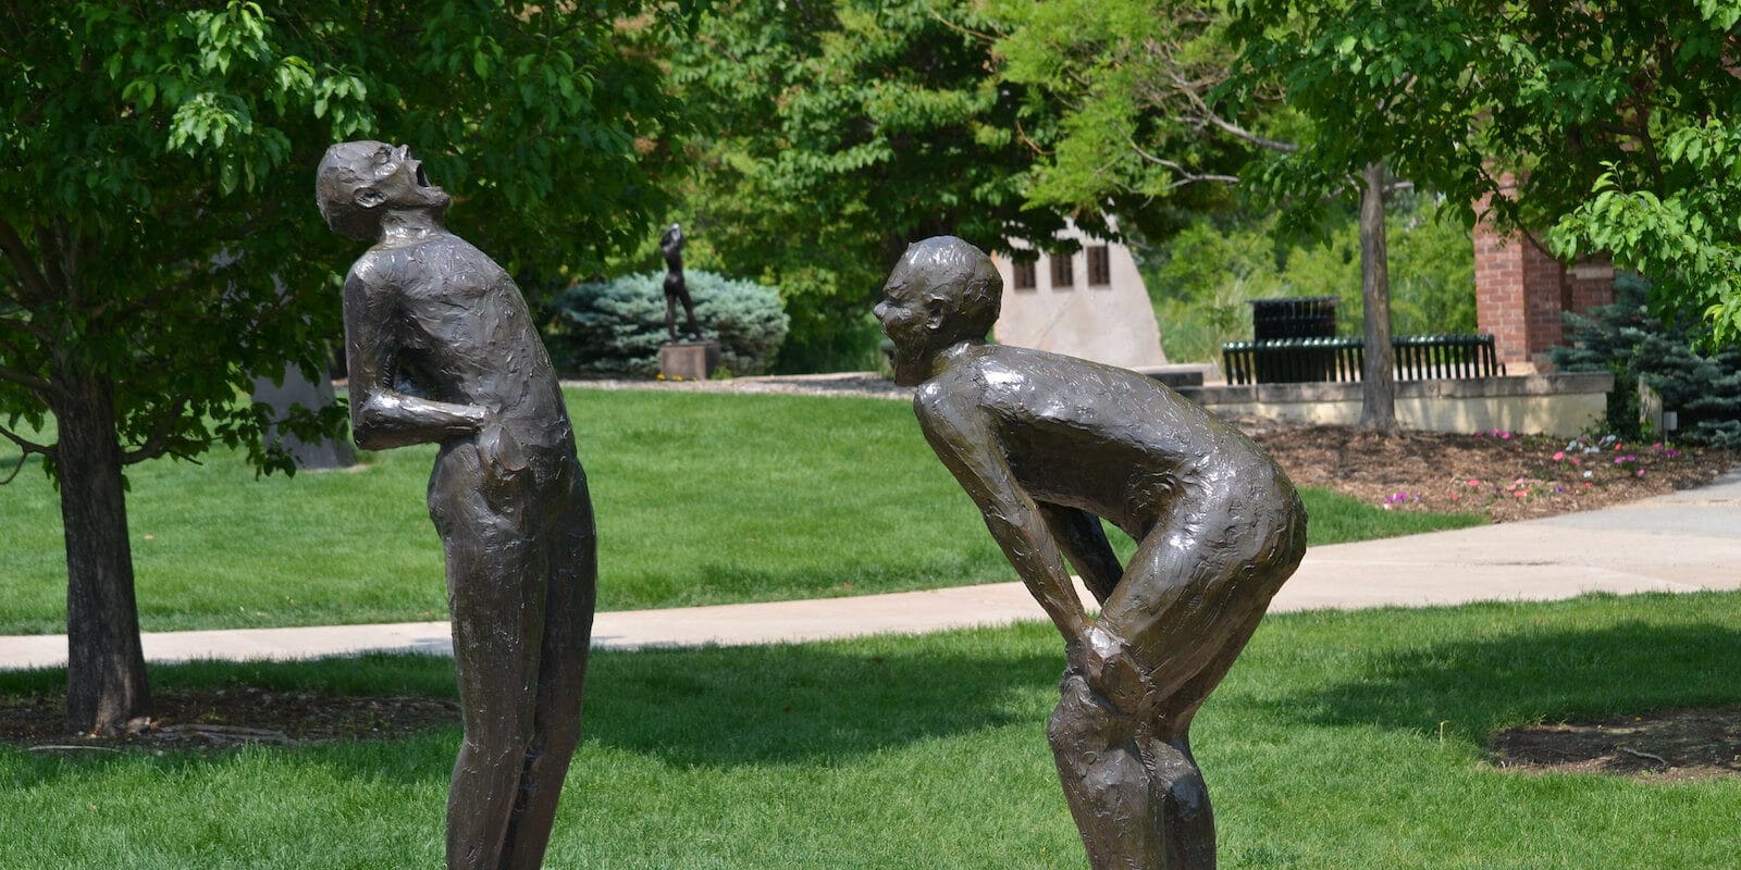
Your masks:
<svg viewBox="0 0 1741 870"><path fill-rule="evenodd" d="M1003 278L984 251L952 235L907 245L876 306L895 343L895 381L918 385L937 351L984 341L1001 304Z"/></svg>

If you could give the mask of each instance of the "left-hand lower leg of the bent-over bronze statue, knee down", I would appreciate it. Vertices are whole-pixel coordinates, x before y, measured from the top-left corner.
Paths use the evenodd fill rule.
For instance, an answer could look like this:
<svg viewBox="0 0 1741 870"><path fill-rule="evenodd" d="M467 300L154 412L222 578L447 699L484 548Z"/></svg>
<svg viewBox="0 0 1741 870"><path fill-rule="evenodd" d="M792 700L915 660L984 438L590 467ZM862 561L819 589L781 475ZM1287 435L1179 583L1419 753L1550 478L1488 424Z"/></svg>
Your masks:
<svg viewBox="0 0 1741 870"><path fill-rule="evenodd" d="M1161 870L1168 865L1149 773L1137 746L1137 719L1116 710L1078 673L1065 673L1046 740L1076 830L1093 870Z"/></svg>

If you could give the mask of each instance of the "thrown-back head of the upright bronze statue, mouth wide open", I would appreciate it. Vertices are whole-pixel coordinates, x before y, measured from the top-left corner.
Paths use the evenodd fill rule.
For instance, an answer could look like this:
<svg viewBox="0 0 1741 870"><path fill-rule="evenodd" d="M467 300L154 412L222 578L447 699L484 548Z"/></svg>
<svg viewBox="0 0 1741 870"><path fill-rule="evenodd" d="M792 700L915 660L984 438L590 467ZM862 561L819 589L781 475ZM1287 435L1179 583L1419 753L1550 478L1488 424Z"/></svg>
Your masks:
<svg viewBox="0 0 1741 870"><path fill-rule="evenodd" d="M315 171L315 204L327 226L352 238L381 235L381 216L390 209L430 209L437 214L453 202L447 191L428 183L423 162L409 146L359 141L327 148Z"/></svg>

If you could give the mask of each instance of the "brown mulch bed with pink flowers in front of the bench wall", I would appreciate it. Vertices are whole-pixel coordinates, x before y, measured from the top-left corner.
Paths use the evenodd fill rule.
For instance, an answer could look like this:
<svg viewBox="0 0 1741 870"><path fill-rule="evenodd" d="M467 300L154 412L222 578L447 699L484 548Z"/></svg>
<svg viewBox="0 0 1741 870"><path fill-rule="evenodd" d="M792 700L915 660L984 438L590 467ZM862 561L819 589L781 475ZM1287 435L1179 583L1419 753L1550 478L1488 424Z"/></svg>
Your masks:
<svg viewBox="0 0 1741 870"><path fill-rule="evenodd" d="M1675 444L1509 432L1408 432L1240 421L1295 484L1388 510L1475 512L1492 522L1605 508L1710 484L1741 454Z"/></svg>

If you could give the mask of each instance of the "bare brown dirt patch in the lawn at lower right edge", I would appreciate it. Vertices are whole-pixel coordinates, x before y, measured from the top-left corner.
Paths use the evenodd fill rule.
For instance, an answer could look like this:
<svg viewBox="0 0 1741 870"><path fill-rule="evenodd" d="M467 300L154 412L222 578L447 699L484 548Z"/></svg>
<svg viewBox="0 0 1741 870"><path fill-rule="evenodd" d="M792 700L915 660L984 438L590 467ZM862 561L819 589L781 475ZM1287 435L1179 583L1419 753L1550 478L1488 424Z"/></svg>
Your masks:
<svg viewBox="0 0 1741 870"><path fill-rule="evenodd" d="M1741 705L1513 727L1489 759L1527 773L1605 773L1640 780L1741 776Z"/></svg>

